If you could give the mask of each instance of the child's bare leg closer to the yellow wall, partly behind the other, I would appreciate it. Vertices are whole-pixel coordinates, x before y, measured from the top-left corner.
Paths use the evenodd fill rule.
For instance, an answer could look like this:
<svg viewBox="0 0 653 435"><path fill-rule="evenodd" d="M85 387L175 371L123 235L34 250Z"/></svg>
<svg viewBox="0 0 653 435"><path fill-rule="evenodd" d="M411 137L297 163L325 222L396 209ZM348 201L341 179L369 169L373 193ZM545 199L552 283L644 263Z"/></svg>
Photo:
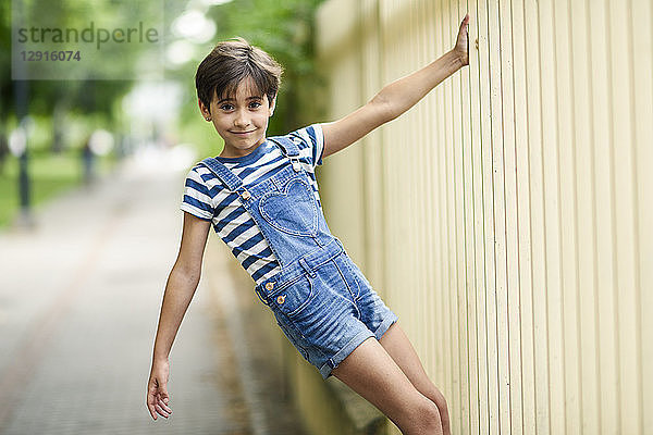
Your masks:
<svg viewBox="0 0 653 435"><path fill-rule="evenodd" d="M440 389L431 382L415 348L397 322L379 340L418 391L431 399L440 410L444 435L451 433L446 400Z"/></svg>

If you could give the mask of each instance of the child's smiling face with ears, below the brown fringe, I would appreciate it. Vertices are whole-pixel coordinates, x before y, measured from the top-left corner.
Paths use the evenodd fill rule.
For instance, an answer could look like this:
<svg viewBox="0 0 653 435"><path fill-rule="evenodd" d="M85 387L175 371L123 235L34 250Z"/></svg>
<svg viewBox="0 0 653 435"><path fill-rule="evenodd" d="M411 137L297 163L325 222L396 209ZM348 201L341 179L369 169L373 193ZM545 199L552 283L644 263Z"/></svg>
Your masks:
<svg viewBox="0 0 653 435"><path fill-rule="evenodd" d="M268 96L259 96L250 89L256 89L251 78L238 84L236 95L219 99L213 96L211 111L199 102L205 117L209 117L218 134L224 139L224 150L221 157L247 156L266 141L268 120L274 111ZM235 99L234 99L235 97Z"/></svg>

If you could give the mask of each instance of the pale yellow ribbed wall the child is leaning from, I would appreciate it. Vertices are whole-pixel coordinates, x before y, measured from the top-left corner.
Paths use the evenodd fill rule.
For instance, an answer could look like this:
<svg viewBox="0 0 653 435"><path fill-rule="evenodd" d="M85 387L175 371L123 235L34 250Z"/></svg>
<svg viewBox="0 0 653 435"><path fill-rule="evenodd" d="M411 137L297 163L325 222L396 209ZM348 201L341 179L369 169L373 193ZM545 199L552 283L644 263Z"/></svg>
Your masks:
<svg viewBox="0 0 653 435"><path fill-rule="evenodd" d="M653 434L652 3L329 0L324 121L466 12L470 65L319 169L329 225L454 433Z"/></svg>

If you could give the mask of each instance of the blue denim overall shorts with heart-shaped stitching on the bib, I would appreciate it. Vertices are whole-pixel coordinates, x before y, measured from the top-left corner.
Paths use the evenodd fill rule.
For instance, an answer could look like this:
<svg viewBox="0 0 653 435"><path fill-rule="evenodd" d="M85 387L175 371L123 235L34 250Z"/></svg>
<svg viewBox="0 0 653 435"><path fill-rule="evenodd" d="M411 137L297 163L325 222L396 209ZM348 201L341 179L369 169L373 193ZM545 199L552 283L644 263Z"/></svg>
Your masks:
<svg viewBox="0 0 653 435"><path fill-rule="evenodd" d="M217 159L201 163L238 194L274 252L281 271L255 291L293 346L325 380L365 339L380 339L397 315L329 231L299 163L297 145L287 136L268 140L287 161L270 178L247 188Z"/></svg>

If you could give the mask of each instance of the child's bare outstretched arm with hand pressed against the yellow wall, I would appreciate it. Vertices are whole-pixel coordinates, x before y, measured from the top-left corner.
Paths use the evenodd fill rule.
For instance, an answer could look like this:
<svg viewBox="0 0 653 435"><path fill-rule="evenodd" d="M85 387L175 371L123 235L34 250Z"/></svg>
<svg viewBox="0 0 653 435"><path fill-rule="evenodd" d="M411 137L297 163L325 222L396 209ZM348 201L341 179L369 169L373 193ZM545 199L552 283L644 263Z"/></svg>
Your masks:
<svg viewBox="0 0 653 435"><path fill-rule="evenodd" d="M345 117L322 124L324 151L322 157L333 154L354 144L378 126L394 120L442 80L469 64L467 25L469 15L460 23L456 46L421 70L385 86L366 105Z"/></svg>

